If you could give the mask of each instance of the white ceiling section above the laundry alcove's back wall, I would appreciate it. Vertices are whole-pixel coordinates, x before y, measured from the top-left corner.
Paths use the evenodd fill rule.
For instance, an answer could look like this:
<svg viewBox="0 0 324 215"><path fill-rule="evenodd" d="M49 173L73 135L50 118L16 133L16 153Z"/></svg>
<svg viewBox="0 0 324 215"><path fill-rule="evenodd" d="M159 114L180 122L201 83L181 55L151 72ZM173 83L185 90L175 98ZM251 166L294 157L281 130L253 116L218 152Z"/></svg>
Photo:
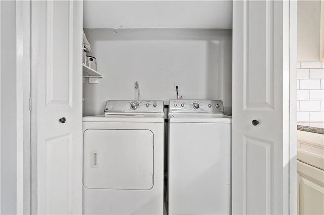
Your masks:
<svg viewBox="0 0 324 215"><path fill-rule="evenodd" d="M83 28L232 28L232 0L83 1Z"/></svg>

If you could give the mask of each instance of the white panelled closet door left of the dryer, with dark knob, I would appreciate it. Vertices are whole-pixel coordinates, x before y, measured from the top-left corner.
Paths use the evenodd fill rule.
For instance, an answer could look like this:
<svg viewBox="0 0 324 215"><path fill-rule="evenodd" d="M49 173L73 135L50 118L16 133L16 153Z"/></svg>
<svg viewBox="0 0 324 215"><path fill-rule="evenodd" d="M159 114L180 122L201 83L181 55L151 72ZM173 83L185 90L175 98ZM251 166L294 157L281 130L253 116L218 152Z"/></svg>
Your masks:
<svg viewBox="0 0 324 215"><path fill-rule="evenodd" d="M82 1L31 4L32 210L81 214Z"/></svg>

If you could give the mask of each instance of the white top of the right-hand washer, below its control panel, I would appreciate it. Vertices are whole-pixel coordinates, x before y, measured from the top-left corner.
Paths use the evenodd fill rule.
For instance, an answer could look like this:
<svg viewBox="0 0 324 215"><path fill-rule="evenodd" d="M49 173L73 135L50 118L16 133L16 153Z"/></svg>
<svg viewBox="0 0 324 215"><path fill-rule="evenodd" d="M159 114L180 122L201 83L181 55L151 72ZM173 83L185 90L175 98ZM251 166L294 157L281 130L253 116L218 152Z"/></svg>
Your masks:
<svg viewBox="0 0 324 215"><path fill-rule="evenodd" d="M170 123L232 123L232 117L224 114L169 113Z"/></svg>

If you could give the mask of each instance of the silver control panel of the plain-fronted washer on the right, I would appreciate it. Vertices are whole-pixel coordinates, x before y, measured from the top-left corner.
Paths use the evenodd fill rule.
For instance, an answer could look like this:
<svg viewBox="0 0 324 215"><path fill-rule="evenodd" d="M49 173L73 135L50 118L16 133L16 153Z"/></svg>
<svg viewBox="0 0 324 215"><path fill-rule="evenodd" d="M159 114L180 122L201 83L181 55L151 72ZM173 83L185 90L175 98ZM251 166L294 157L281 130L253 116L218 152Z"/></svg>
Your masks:
<svg viewBox="0 0 324 215"><path fill-rule="evenodd" d="M223 114L221 100L170 100L169 113L216 113Z"/></svg>

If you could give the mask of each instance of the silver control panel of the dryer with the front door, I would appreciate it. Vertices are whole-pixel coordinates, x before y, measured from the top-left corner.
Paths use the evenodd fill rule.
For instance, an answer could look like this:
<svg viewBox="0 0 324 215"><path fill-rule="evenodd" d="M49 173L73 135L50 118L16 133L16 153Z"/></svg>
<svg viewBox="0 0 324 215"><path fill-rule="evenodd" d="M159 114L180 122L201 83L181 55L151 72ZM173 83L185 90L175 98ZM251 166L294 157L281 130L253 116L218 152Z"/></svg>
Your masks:
<svg viewBox="0 0 324 215"><path fill-rule="evenodd" d="M163 101L108 100L105 113L163 113Z"/></svg>

